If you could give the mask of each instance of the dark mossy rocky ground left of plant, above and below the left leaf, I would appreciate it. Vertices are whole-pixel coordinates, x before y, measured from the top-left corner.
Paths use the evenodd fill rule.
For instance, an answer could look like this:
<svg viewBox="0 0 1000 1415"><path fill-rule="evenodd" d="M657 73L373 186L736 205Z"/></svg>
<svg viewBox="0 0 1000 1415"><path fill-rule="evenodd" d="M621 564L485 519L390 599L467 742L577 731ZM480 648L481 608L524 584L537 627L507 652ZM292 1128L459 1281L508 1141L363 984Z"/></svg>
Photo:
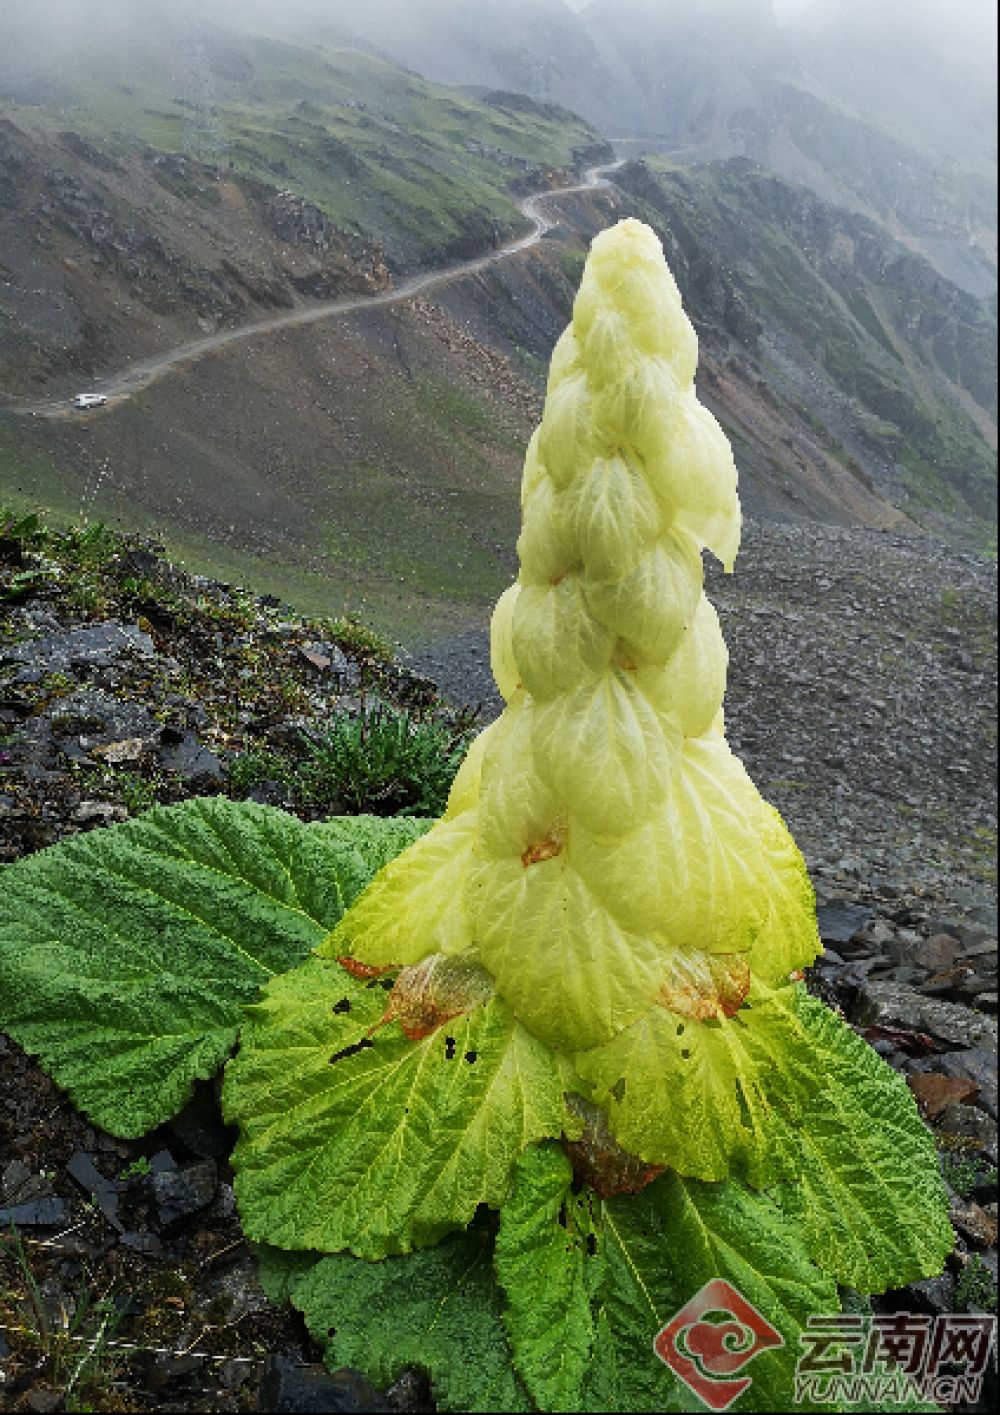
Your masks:
<svg viewBox="0 0 1000 1415"><path fill-rule="evenodd" d="M453 716L358 624L188 576L151 542L0 514L0 869L190 795L318 815L233 764L281 761L304 730L378 705ZM419 1382L383 1398L314 1368L301 1323L267 1303L232 1142L212 1087L116 1140L0 1036L0 1409L419 1405Z"/></svg>

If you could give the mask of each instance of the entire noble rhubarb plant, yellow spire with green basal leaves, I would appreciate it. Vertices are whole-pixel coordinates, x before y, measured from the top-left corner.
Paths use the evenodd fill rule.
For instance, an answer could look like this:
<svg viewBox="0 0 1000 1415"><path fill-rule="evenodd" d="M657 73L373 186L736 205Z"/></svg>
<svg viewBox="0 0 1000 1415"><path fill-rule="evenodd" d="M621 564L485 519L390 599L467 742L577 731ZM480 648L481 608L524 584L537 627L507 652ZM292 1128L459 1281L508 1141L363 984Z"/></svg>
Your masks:
<svg viewBox="0 0 1000 1415"><path fill-rule="evenodd" d="M789 1409L806 1317L952 1247L907 1087L799 981L809 879L726 741L702 552L731 567L740 505L696 352L652 232L598 236L492 620L506 706L440 821L190 802L4 872L0 1026L119 1135L239 1039L269 1290L443 1409L700 1408L652 1341L719 1278L784 1343L740 1408Z"/></svg>

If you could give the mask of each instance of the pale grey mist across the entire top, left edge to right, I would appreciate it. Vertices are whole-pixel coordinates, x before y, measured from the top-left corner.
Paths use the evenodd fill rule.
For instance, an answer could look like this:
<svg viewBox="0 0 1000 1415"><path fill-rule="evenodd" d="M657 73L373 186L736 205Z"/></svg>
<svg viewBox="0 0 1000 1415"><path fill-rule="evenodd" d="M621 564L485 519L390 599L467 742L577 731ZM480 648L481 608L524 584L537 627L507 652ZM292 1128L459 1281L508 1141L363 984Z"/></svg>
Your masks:
<svg viewBox="0 0 1000 1415"><path fill-rule="evenodd" d="M185 91L197 51L199 92L239 103L260 44L354 48L569 109L628 156L748 157L928 231L943 200L976 233L996 232L996 30L990 0L4 0L0 100L69 110L95 76ZM939 269L979 290L953 256Z"/></svg>

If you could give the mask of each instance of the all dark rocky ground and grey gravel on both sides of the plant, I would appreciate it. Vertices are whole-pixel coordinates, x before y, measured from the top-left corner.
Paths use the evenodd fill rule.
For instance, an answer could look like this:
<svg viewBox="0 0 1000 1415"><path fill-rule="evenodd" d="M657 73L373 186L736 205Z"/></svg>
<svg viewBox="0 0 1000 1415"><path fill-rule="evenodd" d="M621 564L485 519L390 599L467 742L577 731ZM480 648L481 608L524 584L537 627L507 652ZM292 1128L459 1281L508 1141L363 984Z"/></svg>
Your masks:
<svg viewBox="0 0 1000 1415"><path fill-rule="evenodd" d="M925 538L750 525L709 593L730 739L816 884L810 986L907 1075L952 1193L946 1272L880 1300L994 1310L996 567ZM376 698L443 722L496 706L485 625L400 664L356 624L100 529L0 526L0 625L6 862L192 794L317 814L236 763ZM325 1377L266 1302L212 1087L123 1143L1 1037L0 1075L0 1227L21 1235L0 1242L0 1409L429 1408L420 1382Z"/></svg>

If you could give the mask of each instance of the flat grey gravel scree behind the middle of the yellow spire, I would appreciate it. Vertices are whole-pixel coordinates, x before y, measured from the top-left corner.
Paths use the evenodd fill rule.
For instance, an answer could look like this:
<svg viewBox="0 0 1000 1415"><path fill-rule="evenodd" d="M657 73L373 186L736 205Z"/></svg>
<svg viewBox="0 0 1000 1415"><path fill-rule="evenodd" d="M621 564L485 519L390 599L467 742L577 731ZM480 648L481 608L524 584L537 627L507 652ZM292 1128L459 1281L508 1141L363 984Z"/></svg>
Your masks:
<svg viewBox="0 0 1000 1415"><path fill-rule="evenodd" d="M744 526L706 591L727 734L818 874L996 896L996 565L931 536ZM413 648L455 703L499 698L479 628Z"/></svg>

